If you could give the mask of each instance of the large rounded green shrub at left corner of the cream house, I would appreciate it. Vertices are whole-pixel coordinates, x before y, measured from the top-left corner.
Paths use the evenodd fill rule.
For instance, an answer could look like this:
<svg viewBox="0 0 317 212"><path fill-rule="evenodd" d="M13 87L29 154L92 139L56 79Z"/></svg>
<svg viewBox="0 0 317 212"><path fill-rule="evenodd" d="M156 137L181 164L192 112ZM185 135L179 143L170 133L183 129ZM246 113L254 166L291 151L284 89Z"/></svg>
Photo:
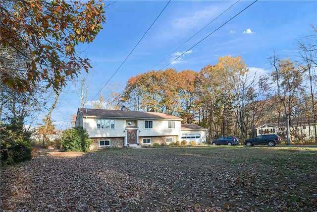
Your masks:
<svg viewBox="0 0 317 212"><path fill-rule="evenodd" d="M61 148L64 151L88 151L91 140L88 132L82 127L65 130L60 138Z"/></svg>

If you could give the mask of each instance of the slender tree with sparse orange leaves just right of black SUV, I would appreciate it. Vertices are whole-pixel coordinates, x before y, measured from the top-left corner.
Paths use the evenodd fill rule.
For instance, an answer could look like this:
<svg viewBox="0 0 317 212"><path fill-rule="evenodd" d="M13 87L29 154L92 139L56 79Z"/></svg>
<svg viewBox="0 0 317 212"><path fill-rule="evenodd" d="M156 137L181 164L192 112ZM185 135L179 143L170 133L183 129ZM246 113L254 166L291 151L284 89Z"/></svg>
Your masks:
<svg viewBox="0 0 317 212"><path fill-rule="evenodd" d="M293 113L294 99L300 91L303 81L303 70L296 67L289 59L278 59L275 55L270 58L270 63L274 69L271 72L272 81L276 85L276 93L283 106L286 143L290 145L290 121Z"/></svg>

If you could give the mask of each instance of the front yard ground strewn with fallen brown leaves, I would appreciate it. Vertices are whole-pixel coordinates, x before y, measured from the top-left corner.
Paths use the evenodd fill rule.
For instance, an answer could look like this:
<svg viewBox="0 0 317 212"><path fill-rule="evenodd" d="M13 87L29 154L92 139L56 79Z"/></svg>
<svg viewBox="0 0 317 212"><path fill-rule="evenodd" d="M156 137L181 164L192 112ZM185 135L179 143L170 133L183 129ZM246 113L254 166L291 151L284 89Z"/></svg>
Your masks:
<svg viewBox="0 0 317 212"><path fill-rule="evenodd" d="M317 212L317 148L42 154L1 169L7 212Z"/></svg>

